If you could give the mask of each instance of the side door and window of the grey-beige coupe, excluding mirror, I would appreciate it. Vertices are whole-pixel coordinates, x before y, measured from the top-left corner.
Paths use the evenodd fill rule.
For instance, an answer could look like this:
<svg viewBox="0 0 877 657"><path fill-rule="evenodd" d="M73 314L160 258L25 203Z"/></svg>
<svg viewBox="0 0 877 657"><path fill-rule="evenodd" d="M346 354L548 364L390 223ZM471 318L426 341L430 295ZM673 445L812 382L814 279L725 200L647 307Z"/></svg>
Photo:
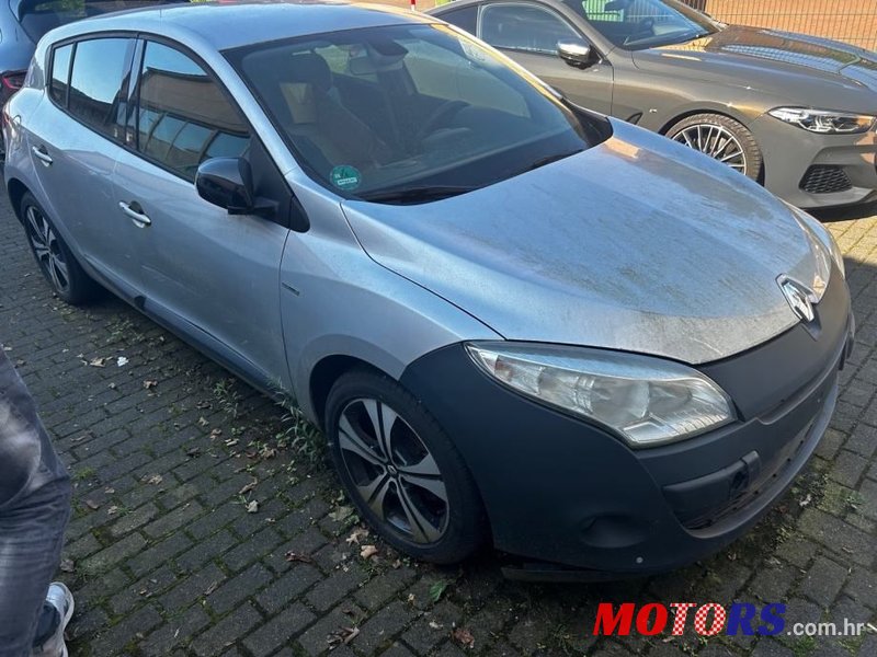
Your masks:
<svg viewBox="0 0 877 657"><path fill-rule="evenodd" d="M537 2L483 4L478 15L478 36L577 105L612 113L612 66L604 59L582 69L560 59L558 41L585 37L554 9Z"/></svg>

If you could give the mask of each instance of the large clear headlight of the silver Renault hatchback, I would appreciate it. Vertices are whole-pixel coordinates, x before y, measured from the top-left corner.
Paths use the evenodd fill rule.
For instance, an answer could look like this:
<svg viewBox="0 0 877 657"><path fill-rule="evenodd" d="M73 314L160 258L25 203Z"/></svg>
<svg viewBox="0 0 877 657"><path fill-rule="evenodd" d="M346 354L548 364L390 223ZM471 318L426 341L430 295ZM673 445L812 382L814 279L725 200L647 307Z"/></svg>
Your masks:
<svg viewBox="0 0 877 657"><path fill-rule="evenodd" d="M716 383L671 360L534 344L471 343L467 349L505 385L604 425L634 448L690 438L734 418Z"/></svg>

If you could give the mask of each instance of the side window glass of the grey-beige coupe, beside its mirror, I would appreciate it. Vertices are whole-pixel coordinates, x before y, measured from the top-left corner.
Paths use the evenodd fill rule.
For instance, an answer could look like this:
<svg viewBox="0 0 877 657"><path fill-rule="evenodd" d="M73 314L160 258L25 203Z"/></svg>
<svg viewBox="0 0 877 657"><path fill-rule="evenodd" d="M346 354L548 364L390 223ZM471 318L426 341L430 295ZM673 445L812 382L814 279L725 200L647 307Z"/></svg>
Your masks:
<svg viewBox="0 0 877 657"><path fill-rule="evenodd" d="M536 4L488 4L481 10L480 36L497 48L557 55L561 38L579 34L560 15Z"/></svg>

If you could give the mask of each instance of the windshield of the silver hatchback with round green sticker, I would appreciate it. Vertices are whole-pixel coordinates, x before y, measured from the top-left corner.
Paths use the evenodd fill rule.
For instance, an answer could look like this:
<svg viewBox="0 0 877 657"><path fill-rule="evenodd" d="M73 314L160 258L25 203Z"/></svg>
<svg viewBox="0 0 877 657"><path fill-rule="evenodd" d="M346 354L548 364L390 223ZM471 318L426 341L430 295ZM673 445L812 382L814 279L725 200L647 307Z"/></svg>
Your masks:
<svg viewBox="0 0 877 657"><path fill-rule="evenodd" d="M351 198L462 194L610 132L446 25L349 30L226 55L303 169Z"/></svg>

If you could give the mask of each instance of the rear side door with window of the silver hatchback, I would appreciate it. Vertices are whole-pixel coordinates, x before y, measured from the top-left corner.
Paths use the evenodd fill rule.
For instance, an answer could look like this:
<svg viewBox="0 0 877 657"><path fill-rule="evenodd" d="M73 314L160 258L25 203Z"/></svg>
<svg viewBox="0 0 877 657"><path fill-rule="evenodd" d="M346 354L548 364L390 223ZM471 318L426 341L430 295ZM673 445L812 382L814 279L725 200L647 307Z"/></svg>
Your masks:
<svg viewBox="0 0 877 657"><path fill-rule="evenodd" d="M50 53L48 97L29 119L29 153L49 211L81 257L117 291L134 296L136 228L115 207L112 175L124 132L135 39L84 38Z"/></svg>

